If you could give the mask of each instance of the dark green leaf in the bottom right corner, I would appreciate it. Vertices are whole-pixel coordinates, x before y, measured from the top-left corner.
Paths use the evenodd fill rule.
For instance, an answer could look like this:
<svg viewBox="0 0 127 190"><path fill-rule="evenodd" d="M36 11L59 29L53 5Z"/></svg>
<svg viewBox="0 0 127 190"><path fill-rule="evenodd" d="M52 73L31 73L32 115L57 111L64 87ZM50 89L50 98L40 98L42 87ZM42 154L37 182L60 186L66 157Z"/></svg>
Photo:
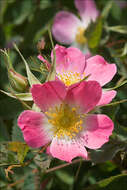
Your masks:
<svg viewBox="0 0 127 190"><path fill-rule="evenodd" d="M126 190L127 188L127 174L120 174L110 178L99 181L84 190Z"/></svg>

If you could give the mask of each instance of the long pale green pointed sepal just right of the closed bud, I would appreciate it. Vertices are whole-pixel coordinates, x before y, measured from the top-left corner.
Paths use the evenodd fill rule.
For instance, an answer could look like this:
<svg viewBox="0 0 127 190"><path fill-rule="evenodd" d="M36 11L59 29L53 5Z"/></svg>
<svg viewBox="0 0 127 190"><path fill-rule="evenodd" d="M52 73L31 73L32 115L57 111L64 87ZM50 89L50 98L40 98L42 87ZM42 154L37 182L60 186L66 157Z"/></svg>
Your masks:
<svg viewBox="0 0 127 190"><path fill-rule="evenodd" d="M26 60L24 59L24 57L22 56L21 52L19 51L18 47L16 46L16 44L14 44L14 47L16 49L16 51L19 53L19 55L21 56L25 66L26 66L26 72L27 72L27 77L28 77L28 81L30 83L30 86L32 86L33 84L41 84L40 81L33 75L33 73L30 71L29 66L26 62Z"/></svg>

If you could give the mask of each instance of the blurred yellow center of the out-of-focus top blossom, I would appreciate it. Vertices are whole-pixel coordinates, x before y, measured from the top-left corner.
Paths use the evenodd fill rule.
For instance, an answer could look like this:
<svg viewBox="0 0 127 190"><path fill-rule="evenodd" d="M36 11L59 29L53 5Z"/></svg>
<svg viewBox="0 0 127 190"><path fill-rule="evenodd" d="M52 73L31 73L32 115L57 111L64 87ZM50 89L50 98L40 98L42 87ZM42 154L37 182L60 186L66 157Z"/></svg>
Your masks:
<svg viewBox="0 0 127 190"><path fill-rule="evenodd" d="M85 44L87 41L86 37L84 36L84 33L85 33L85 29L82 27L79 27L77 30L75 40L76 40L76 42L78 42L81 45Z"/></svg>

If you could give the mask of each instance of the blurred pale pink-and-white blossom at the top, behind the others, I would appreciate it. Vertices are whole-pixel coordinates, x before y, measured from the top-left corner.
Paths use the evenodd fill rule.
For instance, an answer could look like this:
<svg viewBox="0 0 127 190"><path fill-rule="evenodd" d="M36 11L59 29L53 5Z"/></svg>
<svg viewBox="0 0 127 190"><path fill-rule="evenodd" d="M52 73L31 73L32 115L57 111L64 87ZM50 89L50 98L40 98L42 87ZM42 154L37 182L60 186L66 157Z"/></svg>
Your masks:
<svg viewBox="0 0 127 190"><path fill-rule="evenodd" d="M68 11L60 11L54 18L52 34L62 44L83 45L87 39L84 36L85 30L90 22L95 22L99 15L94 0L75 0L75 6L79 11L81 19Z"/></svg>

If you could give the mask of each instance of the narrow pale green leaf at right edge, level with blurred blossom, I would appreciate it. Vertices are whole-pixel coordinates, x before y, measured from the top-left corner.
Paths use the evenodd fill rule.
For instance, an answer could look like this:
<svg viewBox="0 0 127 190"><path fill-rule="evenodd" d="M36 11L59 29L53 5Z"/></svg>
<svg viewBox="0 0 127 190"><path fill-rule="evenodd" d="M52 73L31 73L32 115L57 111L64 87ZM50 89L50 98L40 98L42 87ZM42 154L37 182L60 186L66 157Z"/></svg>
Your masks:
<svg viewBox="0 0 127 190"><path fill-rule="evenodd" d="M127 34L127 26L119 25L119 26L105 26L107 31L113 31L121 34Z"/></svg>

